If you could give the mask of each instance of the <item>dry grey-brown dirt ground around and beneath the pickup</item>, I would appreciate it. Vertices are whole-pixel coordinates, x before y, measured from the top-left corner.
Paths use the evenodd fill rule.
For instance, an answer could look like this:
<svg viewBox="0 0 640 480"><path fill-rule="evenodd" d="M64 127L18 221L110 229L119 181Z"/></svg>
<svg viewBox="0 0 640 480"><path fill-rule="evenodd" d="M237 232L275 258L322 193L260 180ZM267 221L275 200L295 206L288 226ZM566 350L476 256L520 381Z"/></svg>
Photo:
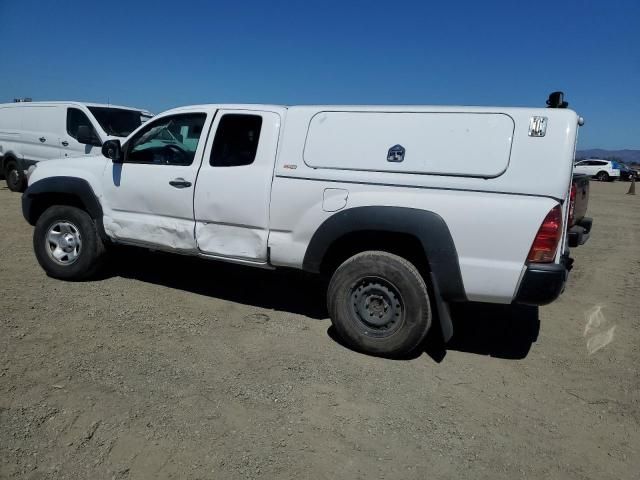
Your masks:
<svg viewBox="0 0 640 480"><path fill-rule="evenodd" d="M321 286L127 250L48 278L0 188L0 478L640 478L640 195L592 183L552 305L470 305L446 350L342 346Z"/></svg>

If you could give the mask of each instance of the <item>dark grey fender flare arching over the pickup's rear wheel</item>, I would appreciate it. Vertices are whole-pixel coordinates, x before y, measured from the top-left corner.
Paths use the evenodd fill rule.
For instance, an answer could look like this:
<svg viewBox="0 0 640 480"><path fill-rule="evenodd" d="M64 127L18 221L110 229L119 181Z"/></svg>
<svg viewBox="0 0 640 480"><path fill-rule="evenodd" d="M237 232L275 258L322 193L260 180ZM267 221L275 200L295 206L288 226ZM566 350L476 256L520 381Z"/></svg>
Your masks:
<svg viewBox="0 0 640 480"><path fill-rule="evenodd" d="M445 221L427 210L404 207L370 206L342 210L318 228L304 256L303 269L319 272L331 245L346 234L358 231L382 231L415 236L422 244L446 301L465 301L458 253Z"/></svg>

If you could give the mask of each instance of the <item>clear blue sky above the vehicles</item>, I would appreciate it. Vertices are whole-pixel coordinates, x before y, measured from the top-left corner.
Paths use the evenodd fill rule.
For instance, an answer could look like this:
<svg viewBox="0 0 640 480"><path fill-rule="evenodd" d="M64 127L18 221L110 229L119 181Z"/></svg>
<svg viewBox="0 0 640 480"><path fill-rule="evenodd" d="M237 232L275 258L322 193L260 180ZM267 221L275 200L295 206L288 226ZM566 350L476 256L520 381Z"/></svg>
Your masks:
<svg viewBox="0 0 640 480"><path fill-rule="evenodd" d="M640 148L640 1L0 0L0 101L543 105Z"/></svg>

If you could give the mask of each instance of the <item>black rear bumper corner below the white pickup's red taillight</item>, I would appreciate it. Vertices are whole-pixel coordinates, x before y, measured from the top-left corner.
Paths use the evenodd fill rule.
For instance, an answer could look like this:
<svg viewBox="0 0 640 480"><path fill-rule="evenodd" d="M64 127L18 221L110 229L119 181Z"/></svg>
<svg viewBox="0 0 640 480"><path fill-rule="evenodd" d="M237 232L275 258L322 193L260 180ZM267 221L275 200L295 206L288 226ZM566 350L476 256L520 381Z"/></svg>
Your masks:
<svg viewBox="0 0 640 480"><path fill-rule="evenodd" d="M520 288L513 303L524 305L546 305L553 302L564 291L571 270L571 258L562 263L532 263L522 276Z"/></svg>

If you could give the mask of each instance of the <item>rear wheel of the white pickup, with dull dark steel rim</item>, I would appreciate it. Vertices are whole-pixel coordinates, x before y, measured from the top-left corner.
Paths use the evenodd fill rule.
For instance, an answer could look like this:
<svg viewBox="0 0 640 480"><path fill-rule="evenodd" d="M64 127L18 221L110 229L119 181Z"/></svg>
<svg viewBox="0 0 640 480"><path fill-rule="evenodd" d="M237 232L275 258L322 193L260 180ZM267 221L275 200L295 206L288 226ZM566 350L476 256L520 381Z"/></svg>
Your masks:
<svg viewBox="0 0 640 480"><path fill-rule="evenodd" d="M352 348L404 356L431 327L429 291L416 267L398 255L362 252L334 272L327 292L331 322Z"/></svg>

